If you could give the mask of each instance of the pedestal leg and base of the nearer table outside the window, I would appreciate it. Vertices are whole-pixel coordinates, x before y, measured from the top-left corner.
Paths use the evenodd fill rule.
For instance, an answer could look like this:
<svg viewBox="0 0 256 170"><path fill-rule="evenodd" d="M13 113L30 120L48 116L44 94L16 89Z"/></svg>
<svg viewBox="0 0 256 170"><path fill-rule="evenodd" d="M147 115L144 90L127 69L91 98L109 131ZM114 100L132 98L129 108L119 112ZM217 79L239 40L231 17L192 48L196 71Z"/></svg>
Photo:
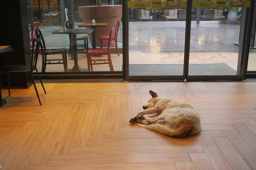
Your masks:
<svg viewBox="0 0 256 170"><path fill-rule="evenodd" d="M68 69L68 72L86 72L88 69L83 69L78 65L77 61L77 44L76 44L76 34L71 34L71 58L74 59L74 67L70 70Z"/></svg>

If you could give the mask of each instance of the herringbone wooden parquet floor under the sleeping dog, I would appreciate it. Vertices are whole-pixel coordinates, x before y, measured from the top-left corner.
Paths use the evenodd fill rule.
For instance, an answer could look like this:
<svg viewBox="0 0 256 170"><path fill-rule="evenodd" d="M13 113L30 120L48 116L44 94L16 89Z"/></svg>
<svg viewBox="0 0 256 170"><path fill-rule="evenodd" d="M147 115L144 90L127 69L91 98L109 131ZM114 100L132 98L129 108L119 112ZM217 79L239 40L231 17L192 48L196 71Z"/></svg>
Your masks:
<svg viewBox="0 0 256 170"><path fill-rule="evenodd" d="M1 170L256 170L256 81L50 83L2 89ZM128 121L149 90L190 103L202 132L172 138Z"/></svg>

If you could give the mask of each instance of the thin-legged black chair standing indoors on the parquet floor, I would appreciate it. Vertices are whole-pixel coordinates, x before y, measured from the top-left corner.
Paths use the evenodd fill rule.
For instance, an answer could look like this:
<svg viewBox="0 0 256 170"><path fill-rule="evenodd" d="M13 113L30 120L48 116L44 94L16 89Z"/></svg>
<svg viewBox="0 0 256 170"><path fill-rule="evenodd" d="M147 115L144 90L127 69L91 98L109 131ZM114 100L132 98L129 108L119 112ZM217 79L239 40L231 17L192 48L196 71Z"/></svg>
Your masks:
<svg viewBox="0 0 256 170"><path fill-rule="evenodd" d="M38 38L34 38L34 40L33 40L31 64L30 65L4 65L0 69L0 74L7 74L9 96L11 96L9 74L11 74L11 73L29 73L32 80L33 80L33 84L34 84L34 87L35 87L35 90L36 90L36 95L37 95L38 101L39 101L40 105L42 105L41 101L40 101L40 98L39 98L37 88L36 88L36 83L35 83L34 77L33 77L33 71L36 70L37 76L40 80L40 83L43 87L43 90L45 91L45 87L44 87L43 82L40 78L38 70L36 68L36 64L37 64L37 60L38 60L38 53L39 53L40 44L41 44L41 37L40 36L37 36L37 37ZM36 49L35 49L35 45L36 45ZM0 82L0 85L1 85L1 82ZM46 94L46 92L45 92L45 94Z"/></svg>

